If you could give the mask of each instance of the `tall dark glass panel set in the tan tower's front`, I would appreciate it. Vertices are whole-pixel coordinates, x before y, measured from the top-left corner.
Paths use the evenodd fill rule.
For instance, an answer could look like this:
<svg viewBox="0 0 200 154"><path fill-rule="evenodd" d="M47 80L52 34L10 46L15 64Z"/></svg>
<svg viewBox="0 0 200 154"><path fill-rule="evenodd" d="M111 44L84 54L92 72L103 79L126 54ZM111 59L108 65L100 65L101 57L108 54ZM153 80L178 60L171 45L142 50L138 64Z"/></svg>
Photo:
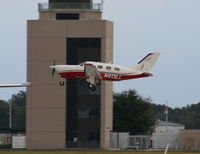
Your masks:
<svg viewBox="0 0 200 154"><path fill-rule="evenodd" d="M101 38L67 38L67 64L84 61L101 61ZM67 147L100 148L101 84L94 92L85 79L67 80L66 87Z"/></svg>

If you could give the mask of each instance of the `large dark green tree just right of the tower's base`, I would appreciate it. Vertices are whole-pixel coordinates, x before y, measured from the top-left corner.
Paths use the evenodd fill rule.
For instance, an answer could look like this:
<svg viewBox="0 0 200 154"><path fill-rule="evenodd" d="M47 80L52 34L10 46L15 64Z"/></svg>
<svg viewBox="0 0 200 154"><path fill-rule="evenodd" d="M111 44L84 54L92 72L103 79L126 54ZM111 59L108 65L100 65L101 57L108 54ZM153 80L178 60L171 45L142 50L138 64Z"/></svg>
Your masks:
<svg viewBox="0 0 200 154"><path fill-rule="evenodd" d="M144 99L135 90L114 94L114 131L131 134L148 133L155 122L150 99Z"/></svg>

